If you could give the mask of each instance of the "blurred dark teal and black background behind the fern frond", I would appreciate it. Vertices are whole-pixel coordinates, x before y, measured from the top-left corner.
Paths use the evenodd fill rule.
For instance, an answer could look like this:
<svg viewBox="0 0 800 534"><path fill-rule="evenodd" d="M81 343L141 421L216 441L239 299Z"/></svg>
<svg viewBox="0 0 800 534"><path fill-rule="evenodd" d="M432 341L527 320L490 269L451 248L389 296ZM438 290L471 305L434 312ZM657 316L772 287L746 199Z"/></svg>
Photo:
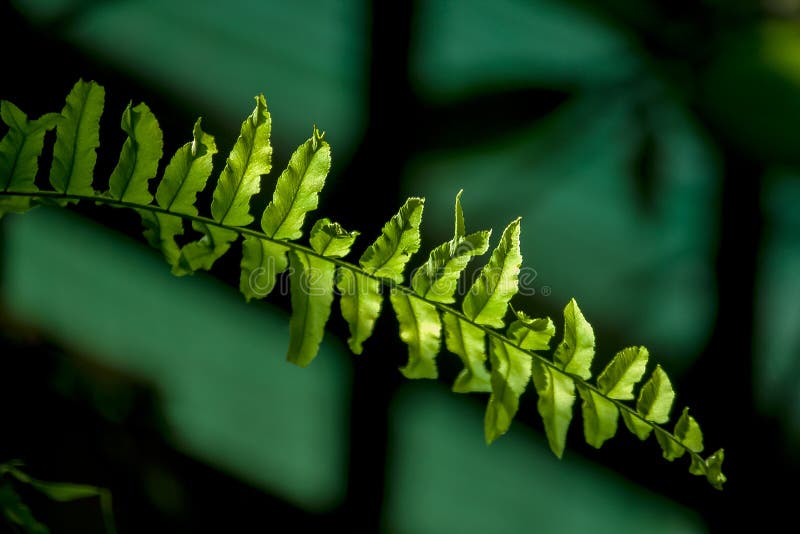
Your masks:
<svg viewBox="0 0 800 534"><path fill-rule="evenodd" d="M438 381L401 379L388 309L360 357L335 311L298 369L287 299L245 304L235 251L175 278L134 214L95 206L0 222L0 461L110 488L121 533L795 524L798 17L797 0L2 4L0 98L37 116L79 77L106 88L98 183L128 101L154 111L166 154L198 116L225 154L263 92L275 176L313 124L327 131L317 213L360 230L357 249L411 195L427 199L425 253L449 239L459 189L468 230L496 239L522 216L535 276L515 305L560 328L575 297L596 370L646 345L729 482L624 429L596 451L577 411L559 461L532 391L486 447L486 398L448 391L455 357ZM102 531L96 502L28 498L55 533Z"/></svg>

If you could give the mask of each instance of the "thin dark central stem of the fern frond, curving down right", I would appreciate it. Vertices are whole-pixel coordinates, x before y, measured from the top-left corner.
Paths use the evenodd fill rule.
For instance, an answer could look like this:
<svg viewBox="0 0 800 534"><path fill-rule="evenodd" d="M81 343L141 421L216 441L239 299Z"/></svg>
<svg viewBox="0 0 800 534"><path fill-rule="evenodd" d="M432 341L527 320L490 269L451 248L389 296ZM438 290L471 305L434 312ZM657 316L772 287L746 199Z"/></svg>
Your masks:
<svg viewBox="0 0 800 534"><path fill-rule="evenodd" d="M365 271L364 269L362 269L361 267L359 267L358 265L354 265L352 263L349 263L349 262L344 261L344 260L339 259L339 258L333 258L333 257L329 257L329 256L324 256L323 254L317 253L312 248L303 246L303 245L301 245L299 243L295 243L295 242L292 242L292 241L285 241L285 240L282 240L282 239L274 239L274 238L268 236L267 234L265 234L264 232L259 232L257 230L253 230L251 228L244 228L244 227L240 227L240 226L230 226L230 225L224 224L222 222L217 222L214 219L211 219L211 218L208 218L208 217L202 217L200 215L189 215L189 214L186 214L186 213L179 213L179 212L175 212L175 211L170 211L168 208L162 208L162 207L154 205L154 204L138 204L136 202L128 202L128 201L124 201L124 200L117 200L117 199L114 199L114 198L111 198L111 197L64 194L64 193L59 193L57 191L36 191L36 192L2 191L2 192L0 192L0 198L3 197L3 196L19 196L19 197L28 197L28 198L58 198L58 199L70 199L70 200L79 200L79 201L80 200L86 200L86 201L89 201L89 202L96 202L96 203L99 203L99 204L105 204L105 205L109 205L109 206L126 207L126 208L132 208L132 209L137 209L137 210L151 211L151 212L154 212L154 213L162 213L162 214L165 214L165 215L174 215L176 217L180 217L180 218L182 218L184 220L187 220L187 221L203 223L203 224L207 224L207 225L210 225L210 226L217 226L217 227L225 229L225 230L231 230L233 232L237 232L237 233L239 233L241 235L252 236L252 237L255 237L255 238L258 238L258 239L263 239L265 241L269 241L269 242L272 242L272 243L280 244L281 246L284 246L286 248L290 248L290 249L295 250L297 252L301 252L301 253L307 254L309 256L314 256L316 258L319 258L319 259L321 259L323 261L326 261L326 262L329 262L329 263L333 263L334 265L336 265L337 267L339 267L341 269L348 269L348 270L350 270L350 271L352 271L354 273L360 274L360 275L365 276L367 278L371 278L373 280L377 280L378 282L380 282L385 287L392 288L392 289L397 290L397 291L401 291L401 292L405 293L408 296L411 296L413 298L416 298L416 299L419 299L421 301L424 301L424 302L434 306L439 312L456 316L459 319L461 319L462 321L468 322L468 323L472 324L473 326L477 327L478 329L482 330L488 336L492 336L495 339L497 339L497 340L499 340L499 341L501 341L503 343L506 343L506 344L509 344L511 346L516 347L517 349L525 352L526 354L529 354L531 357L536 358L537 361L539 361L543 365L547 366L550 370L555 371L556 373L559 373L559 374L561 374L563 376L568 377L570 380L572 380L576 384L580 384L582 387L585 387L587 389L592 390L593 393L597 394L598 396L600 396L600 397L606 399L607 401L611 402L612 404L614 404L617 407L618 410L625 410L629 415L635 417L636 419L638 419L642 423L650 426L654 430L655 429L659 429L670 440L672 440L676 445L679 445L679 446L685 448L686 451L693 458L695 458L696 460L702 461L702 457L698 453L693 452L693 451L689 450L688 448L684 447L683 443L681 443L681 441L672 432L664 429L663 427L661 427L661 425L659 425L657 423L654 423L652 421L648 421L647 419L645 419L645 417L642 414L640 414L633 407L625 404L624 402L622 402L622 401L620 401L618 399L614 399L614 398L606 395L605 393L600 391L596 386L594 386L593 384L591 384L587 380L584 380L583 378L581 378L581 377L579 377L579 376L577 376L577 375L575 375L573 373L570 373L570 372L562 369L561 367L556 365L549 358L546 358L545 356L542 356L541 354L538 354L538 353L533 352L531 350L521 348L518 344L514 343L511 339L509 339L508 337L504 336L502 333L494 330L493 328L490 328L488 326L481 325L481 324L478 324L478 323L472 321L466 315L464 315L462 312L460 312L460 311L458 311L458 310L456 310L454 308L451 308L450 306L448 306L446 304L443 304L441 302L437 302L437 301L434 301L434 300L429 300L426 297L420 296L413 289L411 289L410 287L406 287L406 286L404 286L402 284L395 284L392 280L389 280L387 278L383 278L383 277L380 277L380 276L375 276L373 274L370 274L367 271Z"/></svg>

